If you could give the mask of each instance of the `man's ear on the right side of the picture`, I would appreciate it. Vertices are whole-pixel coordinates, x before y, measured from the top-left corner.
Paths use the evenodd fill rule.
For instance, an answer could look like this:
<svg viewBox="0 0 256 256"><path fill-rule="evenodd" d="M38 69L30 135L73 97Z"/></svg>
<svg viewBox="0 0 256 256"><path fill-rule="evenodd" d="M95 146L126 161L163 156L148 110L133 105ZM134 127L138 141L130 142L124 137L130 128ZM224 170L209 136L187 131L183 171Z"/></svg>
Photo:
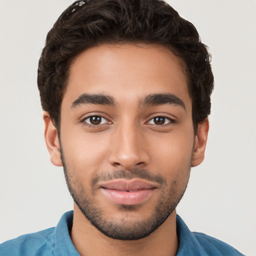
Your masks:
<svg viewBox="0 0 256 256"><path fill-rule="evenodd" d="M194 138L194 149L191 161L191 167L199 165L204 159L205 146L209 131L209 121L204 120L197 126L197 134Z"/></svg>

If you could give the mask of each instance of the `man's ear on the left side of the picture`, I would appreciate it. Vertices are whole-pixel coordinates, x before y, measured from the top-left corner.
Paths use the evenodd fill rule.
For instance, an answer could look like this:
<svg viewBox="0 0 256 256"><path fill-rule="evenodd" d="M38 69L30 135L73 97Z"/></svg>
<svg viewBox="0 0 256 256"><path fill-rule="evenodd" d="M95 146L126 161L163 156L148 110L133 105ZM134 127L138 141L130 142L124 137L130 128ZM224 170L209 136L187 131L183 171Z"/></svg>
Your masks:
<svg viewBox="0 0 256 256"><path fill-rule="evenodd" d="M50 161L56 166L62 166L57 129L52 123L48 112L43 112L43 120L45 126L44 139L50 154Z"/></svg>

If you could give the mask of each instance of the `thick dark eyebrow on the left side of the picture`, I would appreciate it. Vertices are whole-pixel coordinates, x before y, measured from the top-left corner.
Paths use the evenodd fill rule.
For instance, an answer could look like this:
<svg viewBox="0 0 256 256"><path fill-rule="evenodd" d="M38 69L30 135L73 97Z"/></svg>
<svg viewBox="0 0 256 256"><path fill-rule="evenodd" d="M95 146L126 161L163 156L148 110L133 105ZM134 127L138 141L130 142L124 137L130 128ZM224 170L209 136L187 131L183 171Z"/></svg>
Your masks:
<svg viewBox="0 0 256 256"><path fill-rule="evenodd" d="M71 108L77 107L83 104L97 104L97 105L110 105L115 106L116 102L112 96L105 94L88 94L83 93L71 104Z"/></svg>

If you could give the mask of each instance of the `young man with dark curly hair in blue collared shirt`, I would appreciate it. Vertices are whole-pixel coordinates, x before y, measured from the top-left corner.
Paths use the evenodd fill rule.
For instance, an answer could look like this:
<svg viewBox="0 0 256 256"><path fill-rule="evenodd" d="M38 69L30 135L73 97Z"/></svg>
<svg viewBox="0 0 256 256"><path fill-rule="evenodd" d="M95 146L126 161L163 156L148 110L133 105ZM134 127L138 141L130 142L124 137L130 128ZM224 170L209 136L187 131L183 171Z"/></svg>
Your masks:
<svg viewBox="0 0 256 256"><path fill-rule="evenodd" d="M77 1L38 66L45 141L74 200L3 255L241 255L175 207L200 164L213 88L194 26L158 0ZM79 254L78 254L79 253Z"/></svg>

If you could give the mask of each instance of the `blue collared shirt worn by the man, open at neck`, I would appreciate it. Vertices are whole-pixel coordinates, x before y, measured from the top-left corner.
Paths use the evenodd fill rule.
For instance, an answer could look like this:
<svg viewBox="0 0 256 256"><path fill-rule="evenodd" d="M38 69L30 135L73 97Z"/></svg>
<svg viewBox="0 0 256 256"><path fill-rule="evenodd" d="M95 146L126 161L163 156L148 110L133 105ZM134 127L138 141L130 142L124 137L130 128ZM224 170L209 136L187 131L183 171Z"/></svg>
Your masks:
<svg viewBox="0 0 256 256"><path fill-rule="evenodd" d="M0 256L79 256L69 231L73 211L62 215L56 227L21 235L0 244ZM203 233L191 232L177 215L179 247L176 256L240 256L232 246Z"/></svg>

